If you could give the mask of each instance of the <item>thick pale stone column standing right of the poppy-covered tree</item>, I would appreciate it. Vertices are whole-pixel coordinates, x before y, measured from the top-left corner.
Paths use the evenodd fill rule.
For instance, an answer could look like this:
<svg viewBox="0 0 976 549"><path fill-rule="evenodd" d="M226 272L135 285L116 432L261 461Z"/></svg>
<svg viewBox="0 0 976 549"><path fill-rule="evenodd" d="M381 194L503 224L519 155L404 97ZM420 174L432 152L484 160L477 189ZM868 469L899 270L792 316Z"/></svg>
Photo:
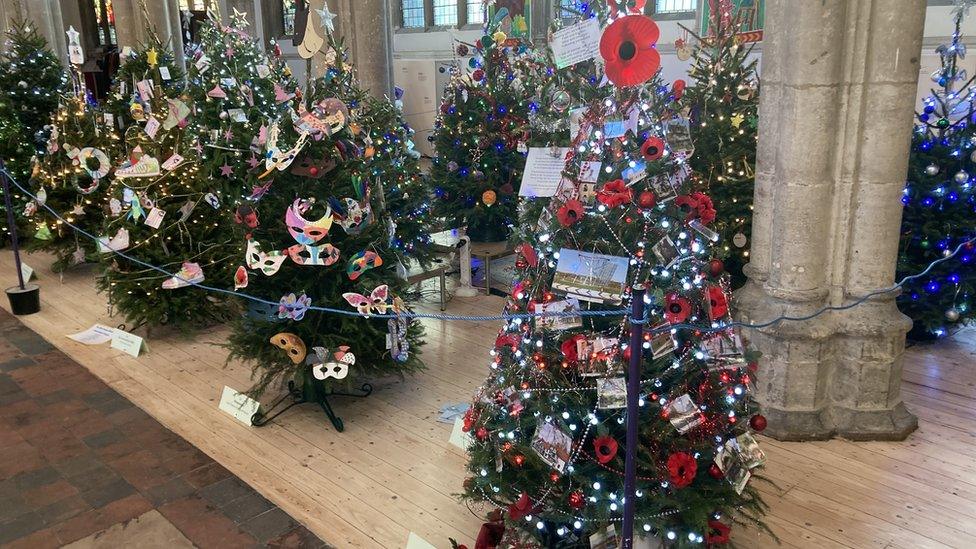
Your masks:
<svg viewBox="0 0 976 549"><path fill-rule="evenodd" d="M802 316L893 283L925 0L767 0L743 320ZM911 326L895 295L749 330L783 440L902 439Z"/></svg>

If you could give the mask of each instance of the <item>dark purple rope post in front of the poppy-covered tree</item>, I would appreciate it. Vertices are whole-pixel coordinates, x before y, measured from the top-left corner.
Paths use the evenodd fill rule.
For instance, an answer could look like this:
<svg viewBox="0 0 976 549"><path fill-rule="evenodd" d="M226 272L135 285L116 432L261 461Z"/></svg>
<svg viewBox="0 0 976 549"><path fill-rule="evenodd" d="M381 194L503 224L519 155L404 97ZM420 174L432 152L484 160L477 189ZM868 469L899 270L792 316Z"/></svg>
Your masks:
<svg viewBox="0 0 976 549"><path fill-rule="evenodd" d="M644 339L643 284L634 286L630 294L630 364L627 369L627 447L624 464L624 521L621 547L634 546L634 499L637 497L637 422L638 393L640 392L641 351Z"/></svg>

